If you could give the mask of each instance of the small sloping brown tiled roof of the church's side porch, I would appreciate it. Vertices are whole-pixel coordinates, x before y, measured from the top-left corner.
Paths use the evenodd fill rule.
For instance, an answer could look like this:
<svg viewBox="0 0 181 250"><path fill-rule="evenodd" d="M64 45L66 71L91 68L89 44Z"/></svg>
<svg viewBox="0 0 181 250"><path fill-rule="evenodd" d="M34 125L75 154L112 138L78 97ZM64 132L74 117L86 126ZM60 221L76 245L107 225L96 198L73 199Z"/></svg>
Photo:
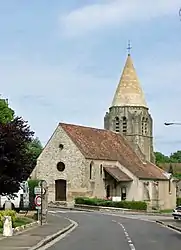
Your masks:
<svg viewBox="0 0 181 250"><path fill-rule="evenodd" d="M110 174L115 180L119 181L132 181L132 179L125 174L117 166L104 166L105 171Z"/></svg>

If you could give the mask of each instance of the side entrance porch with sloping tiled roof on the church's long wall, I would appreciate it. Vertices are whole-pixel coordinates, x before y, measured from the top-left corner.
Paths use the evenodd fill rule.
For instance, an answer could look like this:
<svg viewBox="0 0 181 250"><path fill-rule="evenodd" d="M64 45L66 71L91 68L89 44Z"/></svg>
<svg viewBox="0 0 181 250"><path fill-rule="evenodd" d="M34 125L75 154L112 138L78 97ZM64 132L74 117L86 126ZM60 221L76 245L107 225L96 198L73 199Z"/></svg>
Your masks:
<svg viewBox="0 0 181 250"><path fill-rule="evenodd" d="M132 179L117 166L105 166L106 198L113 200L126 200L129 184Z"/></svg>

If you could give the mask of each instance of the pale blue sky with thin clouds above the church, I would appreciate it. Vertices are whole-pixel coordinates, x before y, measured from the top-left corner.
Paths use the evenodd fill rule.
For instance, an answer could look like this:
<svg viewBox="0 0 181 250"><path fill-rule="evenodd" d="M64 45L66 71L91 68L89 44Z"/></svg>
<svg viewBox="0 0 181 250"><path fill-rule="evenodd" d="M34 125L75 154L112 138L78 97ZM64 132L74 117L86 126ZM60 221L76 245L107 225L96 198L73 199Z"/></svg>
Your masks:
<svg viewBox="0 0 181 250"><path fill-rule="evenodd" d="M103 128L131 56L155 151L181 149L180 0L0 2L1 96L45 145L59 122Z"/></svg>

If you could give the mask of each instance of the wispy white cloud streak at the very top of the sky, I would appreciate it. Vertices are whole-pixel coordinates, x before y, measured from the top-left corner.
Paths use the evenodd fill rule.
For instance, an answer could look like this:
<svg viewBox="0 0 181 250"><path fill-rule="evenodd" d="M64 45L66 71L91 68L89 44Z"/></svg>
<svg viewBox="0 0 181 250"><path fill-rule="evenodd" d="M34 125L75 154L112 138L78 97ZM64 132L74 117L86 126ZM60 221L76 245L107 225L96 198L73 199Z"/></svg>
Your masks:
<svg viewBox="0 0 181 250"><path fill-rule="evenodd" d="M74 9L61 16L60 23L65 35L76 36L102 27L178 15L180 5L180 0L112 0Z"/></svg>

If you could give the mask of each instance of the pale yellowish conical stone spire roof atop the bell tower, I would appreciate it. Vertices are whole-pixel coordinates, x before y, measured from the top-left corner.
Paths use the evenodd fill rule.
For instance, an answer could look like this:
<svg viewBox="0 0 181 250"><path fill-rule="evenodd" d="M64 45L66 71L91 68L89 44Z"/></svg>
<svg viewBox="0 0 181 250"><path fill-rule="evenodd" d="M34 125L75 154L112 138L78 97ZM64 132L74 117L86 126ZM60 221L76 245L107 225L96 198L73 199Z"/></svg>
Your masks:
<svg viewBox="0 0 181 250"><path fill-rule="evenodd" d="M147 108L131 56L128 55L112 106L142 106Z"/></svg>

